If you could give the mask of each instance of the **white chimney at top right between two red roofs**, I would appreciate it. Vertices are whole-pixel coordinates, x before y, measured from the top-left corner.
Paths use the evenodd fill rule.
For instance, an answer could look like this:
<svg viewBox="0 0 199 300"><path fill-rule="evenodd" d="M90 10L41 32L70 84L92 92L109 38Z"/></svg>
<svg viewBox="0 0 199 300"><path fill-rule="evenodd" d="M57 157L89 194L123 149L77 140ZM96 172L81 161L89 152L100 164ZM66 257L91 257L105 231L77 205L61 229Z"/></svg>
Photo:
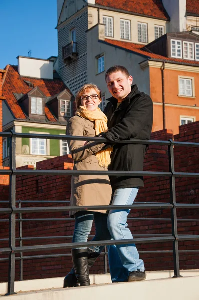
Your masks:
<svg viewBox="0 0 199 300"><path fill-rule="evenodd" d="M169 32L186 31L186 0L162 0L170 16Z"/></svg>

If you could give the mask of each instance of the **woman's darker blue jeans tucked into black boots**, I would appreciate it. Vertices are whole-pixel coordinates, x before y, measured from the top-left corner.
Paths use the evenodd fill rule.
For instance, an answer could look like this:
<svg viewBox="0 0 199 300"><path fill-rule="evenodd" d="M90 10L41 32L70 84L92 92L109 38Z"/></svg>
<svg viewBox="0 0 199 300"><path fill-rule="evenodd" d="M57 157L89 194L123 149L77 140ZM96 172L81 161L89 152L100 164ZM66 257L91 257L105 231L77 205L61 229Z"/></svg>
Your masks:
<svg viewBox="0 0 199 300"><path fill-rule="evenodd" d="M92 229L93 220L95 222L95 236L92 241L110 240L111 235L107 226L107 214L93 211L78 211L75 213L75 227L72 242L86 242L88 235ZM87 247L80 247L76 249L86 249ZM90 247L92 251L101 253L104 246Z"/></svg>

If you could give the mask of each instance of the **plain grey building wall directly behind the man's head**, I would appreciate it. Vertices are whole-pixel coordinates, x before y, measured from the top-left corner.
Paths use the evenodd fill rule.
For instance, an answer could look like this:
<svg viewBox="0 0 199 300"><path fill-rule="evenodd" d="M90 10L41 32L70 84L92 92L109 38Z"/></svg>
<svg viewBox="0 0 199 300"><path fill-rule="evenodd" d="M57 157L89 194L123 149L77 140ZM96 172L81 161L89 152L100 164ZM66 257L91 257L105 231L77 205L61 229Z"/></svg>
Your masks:
<svg viewBox="0 0 199 300"><path fill-rule="evenodd" d="M105 82L105 72L109 67L119 64L125 66L133 77L133 84L137 84L140 91L150 95L149 68L142 70L139 63L146 58L128 52L127 50L119 49L98 41L98 26L90 29L87 32L87 61L88 82L99 86L102 94L105 93L106 98L111 94L108 91ZM97 59L96 56L104 54L105 71L97 74Z"/></svg>

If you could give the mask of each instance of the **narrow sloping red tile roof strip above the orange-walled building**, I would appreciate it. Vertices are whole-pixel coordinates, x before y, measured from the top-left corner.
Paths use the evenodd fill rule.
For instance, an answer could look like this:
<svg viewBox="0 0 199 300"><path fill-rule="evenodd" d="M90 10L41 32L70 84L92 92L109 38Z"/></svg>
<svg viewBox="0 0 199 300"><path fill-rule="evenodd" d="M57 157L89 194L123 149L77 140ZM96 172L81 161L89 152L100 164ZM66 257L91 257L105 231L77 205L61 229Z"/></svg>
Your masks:
<svg viewBox="0 0 199 300"><path fill-rule="evenodd" d="M165 57L159 54L155 54L155 53L151 53L148 52L146 49L144 49L144 46L141 44L135 44L132 42L126 42L126 41L119 41L119 40L113 40L113 39L105 39L105 42L110 44L110 45L114 45L123 49L127 49L130 50L132 52L134 52L135 54L141 54L142 56L144 55L145 58L147 59L157 59L157 60L167 60L172 61L172 62L183 62L186 64L196 64L199 66L199 61L195 61L195 60L187 60L187 59L178 59L178 58L170 58L170 57Z"/></svg>

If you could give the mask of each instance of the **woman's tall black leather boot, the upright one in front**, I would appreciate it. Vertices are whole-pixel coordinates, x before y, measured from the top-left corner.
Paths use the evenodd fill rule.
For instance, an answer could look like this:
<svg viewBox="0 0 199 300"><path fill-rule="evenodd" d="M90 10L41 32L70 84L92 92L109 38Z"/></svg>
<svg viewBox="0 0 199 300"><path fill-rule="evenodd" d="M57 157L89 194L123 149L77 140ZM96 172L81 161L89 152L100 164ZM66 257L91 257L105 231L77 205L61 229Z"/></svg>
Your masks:
<svg viewBox="0 0 199 300"><path fill-rule="evenodd" d="M76 286L90 285L88 271L88 249L72 249L72 261L76 275Z"/></svg>

